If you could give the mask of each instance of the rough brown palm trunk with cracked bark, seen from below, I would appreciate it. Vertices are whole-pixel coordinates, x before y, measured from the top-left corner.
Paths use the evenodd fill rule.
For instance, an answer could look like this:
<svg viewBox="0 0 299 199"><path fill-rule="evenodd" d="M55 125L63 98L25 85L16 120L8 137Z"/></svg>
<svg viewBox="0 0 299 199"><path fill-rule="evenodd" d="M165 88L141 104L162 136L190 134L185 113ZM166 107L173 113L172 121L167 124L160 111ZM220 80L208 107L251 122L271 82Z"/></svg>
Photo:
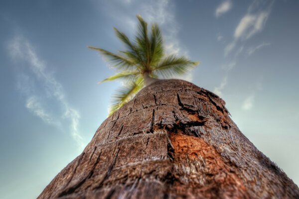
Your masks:
<svg viewBox="0 0 299 199"><path fill-rule="evenodd" d="M224 105L189 82L155 82L108 117L38 198L298 199Z"/></svg>

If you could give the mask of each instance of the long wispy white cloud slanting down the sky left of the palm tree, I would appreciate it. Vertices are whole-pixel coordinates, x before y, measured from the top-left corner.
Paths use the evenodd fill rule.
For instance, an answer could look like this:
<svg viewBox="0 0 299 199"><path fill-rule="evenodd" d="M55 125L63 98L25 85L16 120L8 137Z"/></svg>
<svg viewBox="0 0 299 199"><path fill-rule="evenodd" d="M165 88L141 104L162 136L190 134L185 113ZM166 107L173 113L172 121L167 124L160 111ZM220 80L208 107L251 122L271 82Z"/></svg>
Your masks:
<svg viewBox="0 0 299 199"><path fill-rule="evenodd" d="M80 115L70 107L62 85L47 70L46 63L37 56L31 43L22 36L16 36L8 42L7 50L16 65L26 63L25 65L29 66L26 70L19 69L17 74L20 77L17 87L26 97L26 108L44 122L59 128L62 126L61 120L67 120L68 122L64 123L69 123L73 139L80 149L83 149L84 142L78 130ZM38 90L36 87L42 88ZM48 100L51 100L50 103ZM49 104L55 104L61 107L61 110L53 112Z"/></svg>

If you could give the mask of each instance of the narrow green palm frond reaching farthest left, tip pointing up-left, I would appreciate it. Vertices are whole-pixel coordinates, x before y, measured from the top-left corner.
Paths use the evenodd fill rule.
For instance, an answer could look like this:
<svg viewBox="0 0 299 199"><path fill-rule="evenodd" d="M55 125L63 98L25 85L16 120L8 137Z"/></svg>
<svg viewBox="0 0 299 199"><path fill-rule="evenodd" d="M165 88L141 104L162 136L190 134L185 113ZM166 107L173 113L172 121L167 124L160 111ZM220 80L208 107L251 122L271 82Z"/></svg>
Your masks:
<svg viewBox="0 0 299 199"><path fill-rule="evenodd" d="M117 55L102 48L96 48L88 46L88 48L99 51L104 57L108 58L108 61L113 64L113 67L119 69L127 69L130 67L136 67L137 63L133 59L128 59L122 55Z"/></svg>

